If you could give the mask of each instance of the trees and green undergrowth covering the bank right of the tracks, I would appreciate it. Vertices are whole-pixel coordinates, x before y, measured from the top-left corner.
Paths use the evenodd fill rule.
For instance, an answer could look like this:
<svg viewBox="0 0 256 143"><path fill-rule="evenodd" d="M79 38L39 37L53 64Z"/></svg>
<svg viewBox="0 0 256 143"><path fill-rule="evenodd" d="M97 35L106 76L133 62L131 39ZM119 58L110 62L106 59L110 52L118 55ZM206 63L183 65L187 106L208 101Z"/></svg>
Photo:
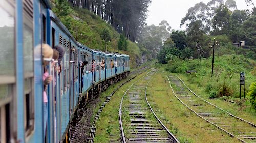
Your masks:
<svg viewBox="0 0 256 143"><path fill-rule="evenodd" d="M252 1L246 2L253 5ZM187 75L188 80L202 87L209 98L238 98L240 72L246 73L246 92L256 78L255 18L255 7L252 10L238 10L233 0L197 3L188 9L181 20L181 26L184 25L186 30L170 34L158 54L158 61L167 64L166 70L173 73L197 71ZM209 43L212 41L218 41L219 46L215 45L211 78L213 46L210 48ZM240 41L245 41L247 49L233 45L233 42Z"/></svg>

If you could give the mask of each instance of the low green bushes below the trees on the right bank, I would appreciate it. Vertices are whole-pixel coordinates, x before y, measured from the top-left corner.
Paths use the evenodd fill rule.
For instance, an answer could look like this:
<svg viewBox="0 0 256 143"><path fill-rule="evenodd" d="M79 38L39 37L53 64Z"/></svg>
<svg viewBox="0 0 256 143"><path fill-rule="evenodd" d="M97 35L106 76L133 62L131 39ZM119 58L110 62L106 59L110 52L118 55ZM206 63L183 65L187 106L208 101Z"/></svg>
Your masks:
<svg viewBox="0 0 256 143"><path fill-rule="evenodd" d="M232 96L239 97L240 72L246 73L246 92L249 85L255 80L256 62L245 58L243 55L225 55L215 57L214 75L211 78L212 59L181 60L174 58L166 65L166 70L173 73L185 74L187 70L197 73L187 74L189 81L207 91L211 98ZM243 89L242 89L243 90Z"/></svg>

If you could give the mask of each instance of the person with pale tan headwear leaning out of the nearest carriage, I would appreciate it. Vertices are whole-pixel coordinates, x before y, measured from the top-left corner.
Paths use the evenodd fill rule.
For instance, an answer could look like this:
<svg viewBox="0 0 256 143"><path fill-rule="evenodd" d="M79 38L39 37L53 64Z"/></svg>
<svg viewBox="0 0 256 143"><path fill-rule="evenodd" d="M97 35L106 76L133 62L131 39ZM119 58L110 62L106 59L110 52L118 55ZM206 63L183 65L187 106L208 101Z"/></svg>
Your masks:
<svg viewBox="0 0 256 143"><path fill-rule="evenodd" d="M53 77L51 75L49 75L48 71L47 71L47 65L49 65L49 62L52 60L52 56L53 56L53 49L47 45L47 44L43 44L42 45L42 56L44 58L44 61L43 61L43 69L44 69L44 74L42 76L42 81L44 83L44 91L42 93L43 95L43 101L44 101L44 136L46 135L46 124L47 124L47 118L48 118L48 109L47 109L47 102L48 102L48 99L47 99L47 93L46 93L46 90L47 90L47 85L49 83L52 82L53 80Z"/></svg>

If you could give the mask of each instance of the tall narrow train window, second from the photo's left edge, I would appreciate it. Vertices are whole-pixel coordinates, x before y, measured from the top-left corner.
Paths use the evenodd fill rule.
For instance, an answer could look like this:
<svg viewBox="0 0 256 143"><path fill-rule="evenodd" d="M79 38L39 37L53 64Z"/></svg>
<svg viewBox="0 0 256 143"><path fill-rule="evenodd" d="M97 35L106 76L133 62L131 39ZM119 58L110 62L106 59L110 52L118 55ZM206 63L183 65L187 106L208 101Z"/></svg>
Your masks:
<svg viewBox="0 0 256 143"><path fill-rule="evenodd" d="M33 92L33 2L23 0L24 128L28 136L34 128Z"/></svg>

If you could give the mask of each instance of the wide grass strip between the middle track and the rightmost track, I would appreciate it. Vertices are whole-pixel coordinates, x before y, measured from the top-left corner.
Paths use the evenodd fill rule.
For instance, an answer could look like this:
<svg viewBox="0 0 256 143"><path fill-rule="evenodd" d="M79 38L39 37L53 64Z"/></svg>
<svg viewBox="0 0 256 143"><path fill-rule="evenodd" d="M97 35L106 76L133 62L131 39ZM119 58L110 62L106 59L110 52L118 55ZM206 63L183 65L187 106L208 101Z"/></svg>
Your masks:
<svg viewBox="0 0 256 143"><path fill-rule="evenodd" d="M165 126L180 142L239 142L219 131L213 125L197 117L172 93L163 73L152 79L147 90L147 98L158 117L164 116L170 122Z"/></svg>

